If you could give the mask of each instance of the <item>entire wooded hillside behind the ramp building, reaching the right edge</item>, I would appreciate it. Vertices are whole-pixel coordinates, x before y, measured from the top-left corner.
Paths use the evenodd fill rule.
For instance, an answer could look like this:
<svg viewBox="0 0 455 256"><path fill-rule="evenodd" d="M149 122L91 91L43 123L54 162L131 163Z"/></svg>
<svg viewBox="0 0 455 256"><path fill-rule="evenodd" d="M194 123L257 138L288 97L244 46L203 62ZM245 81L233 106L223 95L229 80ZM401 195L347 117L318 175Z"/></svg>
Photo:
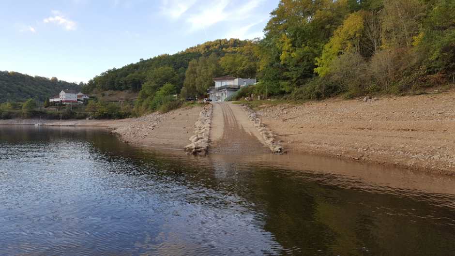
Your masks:
<svg viewBox="0 0 455 256"><path fill-rule="evenodd" d="M256 77L255 93L292 100L455 83L454 0L280 0L264 32L114 68L82 91L140 91L141 115L170 93L203 96L221 75Z"/></svg>

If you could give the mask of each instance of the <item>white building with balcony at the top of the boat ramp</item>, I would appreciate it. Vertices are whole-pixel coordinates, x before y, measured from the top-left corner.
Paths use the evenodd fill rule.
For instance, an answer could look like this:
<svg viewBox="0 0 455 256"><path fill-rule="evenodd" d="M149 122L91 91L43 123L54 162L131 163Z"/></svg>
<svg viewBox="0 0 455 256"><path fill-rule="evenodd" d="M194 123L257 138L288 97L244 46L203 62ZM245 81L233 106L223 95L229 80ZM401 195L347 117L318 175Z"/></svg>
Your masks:
<svg viewBox="0 0 455 256"><path fill-rule="evenodd" d="M216 77L212 80L215 81L215 86L207 90L212 101L224 101L243 86L256 83L256 79L237 78L232 75Z"/></svg>

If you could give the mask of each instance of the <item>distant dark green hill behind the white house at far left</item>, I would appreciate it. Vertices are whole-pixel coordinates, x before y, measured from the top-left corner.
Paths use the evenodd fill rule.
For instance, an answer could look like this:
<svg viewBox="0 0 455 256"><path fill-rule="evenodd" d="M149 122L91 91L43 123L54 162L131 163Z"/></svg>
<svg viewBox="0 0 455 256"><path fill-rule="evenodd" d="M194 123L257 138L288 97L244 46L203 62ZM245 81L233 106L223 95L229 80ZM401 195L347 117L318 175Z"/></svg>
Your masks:
<svg viewBox="0 0 455 256"><path fill-rule="evenodd" d="M61 89L80 91L82 84L68 83L42 76L30 76L18 72L0 71L0 104L5 102L25 102L32 98L44 102L46 97L59 94Z"/></svg>

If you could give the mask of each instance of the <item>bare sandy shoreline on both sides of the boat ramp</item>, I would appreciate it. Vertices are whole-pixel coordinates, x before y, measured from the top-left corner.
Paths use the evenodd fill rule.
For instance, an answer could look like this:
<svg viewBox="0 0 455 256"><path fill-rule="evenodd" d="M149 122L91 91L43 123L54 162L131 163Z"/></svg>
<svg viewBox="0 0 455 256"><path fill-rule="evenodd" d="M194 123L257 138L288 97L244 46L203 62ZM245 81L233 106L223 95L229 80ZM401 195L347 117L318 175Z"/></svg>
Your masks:
<svg viewBox="0 0 455 256"><path fill-rule="evenodd" d="M255 109L285 151L455 175L455 92L377 100L312 101ZM125 120L43 120L106 127L126 143L164 149L191 143L203 106ZM39 120L0 120L0 125ZM210 152L210 149L209 149Z"/></svg>

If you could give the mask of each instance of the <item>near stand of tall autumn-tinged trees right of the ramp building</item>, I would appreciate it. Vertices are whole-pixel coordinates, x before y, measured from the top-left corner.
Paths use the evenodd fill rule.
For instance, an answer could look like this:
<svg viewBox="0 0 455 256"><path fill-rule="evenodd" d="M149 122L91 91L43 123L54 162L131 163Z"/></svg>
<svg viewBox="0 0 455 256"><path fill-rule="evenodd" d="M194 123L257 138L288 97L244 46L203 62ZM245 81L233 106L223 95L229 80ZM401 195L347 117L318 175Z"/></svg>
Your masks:
<svg viewBox="0 0 455 256"><path fill-rule="evenodd" d="M454 82L454 0L281 0L271 15L258 76L273 94L352 97Z"/></svg>

